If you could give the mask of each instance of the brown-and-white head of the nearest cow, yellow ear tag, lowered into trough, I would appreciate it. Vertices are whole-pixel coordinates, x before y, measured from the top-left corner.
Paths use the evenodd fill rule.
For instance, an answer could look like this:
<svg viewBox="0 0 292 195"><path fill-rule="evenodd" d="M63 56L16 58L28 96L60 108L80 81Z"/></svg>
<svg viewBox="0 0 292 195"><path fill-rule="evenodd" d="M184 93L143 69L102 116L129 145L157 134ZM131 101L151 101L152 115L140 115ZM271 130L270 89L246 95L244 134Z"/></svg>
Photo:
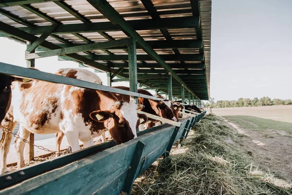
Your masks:
<svg viewBox="0 0 292 195"><path fill-rule="evenodd" d="M121 144L137 137L136 129L140 119L136 110L142 107L132 101L116 101L110 110L93 111L90 117L94 121L104 122L116 144Z"/></svg>

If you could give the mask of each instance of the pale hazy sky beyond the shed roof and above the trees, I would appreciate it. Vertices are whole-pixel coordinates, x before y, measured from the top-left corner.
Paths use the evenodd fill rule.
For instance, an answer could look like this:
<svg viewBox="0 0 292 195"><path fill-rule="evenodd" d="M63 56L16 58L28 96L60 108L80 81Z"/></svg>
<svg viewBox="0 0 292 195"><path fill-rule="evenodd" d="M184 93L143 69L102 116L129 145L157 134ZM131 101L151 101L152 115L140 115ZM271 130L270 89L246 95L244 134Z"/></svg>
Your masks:
<svg viewBox="0 0 292 195"><path fill-rule="evenodd" d="M212 0L211 98L292 98L291 10L292 0ZM0 61L25 67L25 49L0 38ZM57 57L36 59L36 68L45 72L69 67L78 64ZM107 84L105 74L98 76ZM128 83L113 83L117 85Z"/></svg>

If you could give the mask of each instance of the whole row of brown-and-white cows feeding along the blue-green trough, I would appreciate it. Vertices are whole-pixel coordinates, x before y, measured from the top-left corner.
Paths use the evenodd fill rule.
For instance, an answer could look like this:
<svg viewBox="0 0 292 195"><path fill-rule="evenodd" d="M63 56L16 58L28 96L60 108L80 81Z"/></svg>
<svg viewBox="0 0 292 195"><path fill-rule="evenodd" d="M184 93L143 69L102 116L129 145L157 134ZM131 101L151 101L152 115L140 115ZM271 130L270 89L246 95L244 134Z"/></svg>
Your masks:
<svg viewBox="0 0 292 195"><path fill-rule="evenodd" d="M97 75L84 69L60 69L55 74L102 84ZM128 87L115 88L129 91ZM144 89L139 89L138 93L153 96ZM66 135L72 151L75 152L80 150L78 140L87 148L93 145L94 137L104 137L105 132L109 131L116 144L121 144L137 137L138 127L143 130L159 122L137 114L138 109L174 121L179 121L182 117L179 111L183 108L186 113L187 110L201 113L200 108L195 105L183 106L182 102L171 101L159 95L156 97L164 100L138 98L139 103L135 104L128 95L0 74L1 129L6 128L13 132L18 122L18 136L24 139L28 139L30 133L55 133L57 151ZM6 158L11 140L12 134L2 130L0 174L8 171ZM25 166L24 146L25 142L15 139L18 168Z"/></svg>

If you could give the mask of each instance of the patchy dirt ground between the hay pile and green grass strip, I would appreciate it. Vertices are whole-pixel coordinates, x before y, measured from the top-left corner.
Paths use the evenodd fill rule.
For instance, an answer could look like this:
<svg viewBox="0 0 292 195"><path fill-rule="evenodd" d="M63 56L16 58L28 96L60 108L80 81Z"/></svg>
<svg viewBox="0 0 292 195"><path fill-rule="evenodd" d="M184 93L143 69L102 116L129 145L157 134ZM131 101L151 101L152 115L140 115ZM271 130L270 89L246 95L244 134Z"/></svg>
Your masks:
<svg viewBox="0 0 292 195"><path fill-rule="evenodd" d="M292 182L291 132L285 131L286 129L279 130L272 125L270 126L273 128L264 128L263 125L260 126L263 123L257 122L260 120L256 120L256 117L252 117L253 120L246 116L223 116L223 118L230 128L241 135L241 141L237 144L252 157L254 165L278 178ZM271 123L271 120L266 121Z"/></svg>

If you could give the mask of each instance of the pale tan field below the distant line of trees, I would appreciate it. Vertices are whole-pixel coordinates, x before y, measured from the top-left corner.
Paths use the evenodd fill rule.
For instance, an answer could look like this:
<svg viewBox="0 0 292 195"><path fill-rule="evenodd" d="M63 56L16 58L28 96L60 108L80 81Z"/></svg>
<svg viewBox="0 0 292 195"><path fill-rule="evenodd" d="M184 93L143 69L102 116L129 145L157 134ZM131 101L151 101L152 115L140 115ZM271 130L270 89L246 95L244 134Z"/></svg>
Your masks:
<svg viewBox="0 0 292 195"><path fill-rule="evenodd" d="M253 116L292 123L292 105L213 108L212 112L217 116Z"/></svg>

